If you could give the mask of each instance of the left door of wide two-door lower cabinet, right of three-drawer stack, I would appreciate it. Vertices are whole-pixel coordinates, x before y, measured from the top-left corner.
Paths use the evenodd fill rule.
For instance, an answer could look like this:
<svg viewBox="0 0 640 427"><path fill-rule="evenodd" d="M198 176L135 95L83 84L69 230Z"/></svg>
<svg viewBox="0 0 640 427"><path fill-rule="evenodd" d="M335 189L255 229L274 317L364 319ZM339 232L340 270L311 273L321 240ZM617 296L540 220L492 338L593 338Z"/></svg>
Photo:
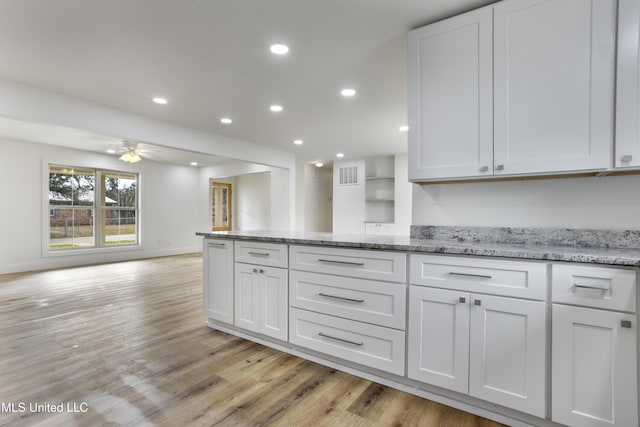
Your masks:
<svg viewBox="0 0 640 427"><path fill-rule="evenodd" d="M408 377L468 393L469 294L409 287Z"/></svg>

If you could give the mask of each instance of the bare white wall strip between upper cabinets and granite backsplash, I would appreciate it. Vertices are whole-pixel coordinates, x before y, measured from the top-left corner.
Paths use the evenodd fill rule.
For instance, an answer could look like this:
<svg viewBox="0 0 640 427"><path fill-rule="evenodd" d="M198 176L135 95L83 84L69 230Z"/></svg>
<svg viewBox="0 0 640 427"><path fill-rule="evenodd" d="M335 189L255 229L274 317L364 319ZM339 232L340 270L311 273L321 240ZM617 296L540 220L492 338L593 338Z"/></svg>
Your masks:
<svg viewBox="0 0 640 427"><path fill-rule="evenodd" d="M640 176L413 186L414 225L640 229Z"/></svg>

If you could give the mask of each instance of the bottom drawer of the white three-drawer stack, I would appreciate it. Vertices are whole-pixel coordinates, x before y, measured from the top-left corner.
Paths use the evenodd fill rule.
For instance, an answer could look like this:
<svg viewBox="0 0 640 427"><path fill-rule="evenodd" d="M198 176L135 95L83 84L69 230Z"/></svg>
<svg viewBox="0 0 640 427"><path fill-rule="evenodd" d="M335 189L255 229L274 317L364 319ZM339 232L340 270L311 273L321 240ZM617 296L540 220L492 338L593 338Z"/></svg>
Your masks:
<svg viewBox="0 0 640 427"><path fill-rule="evenodd" d="M371 368L404 375L404 332L290 309L289 341Z"/></svg>

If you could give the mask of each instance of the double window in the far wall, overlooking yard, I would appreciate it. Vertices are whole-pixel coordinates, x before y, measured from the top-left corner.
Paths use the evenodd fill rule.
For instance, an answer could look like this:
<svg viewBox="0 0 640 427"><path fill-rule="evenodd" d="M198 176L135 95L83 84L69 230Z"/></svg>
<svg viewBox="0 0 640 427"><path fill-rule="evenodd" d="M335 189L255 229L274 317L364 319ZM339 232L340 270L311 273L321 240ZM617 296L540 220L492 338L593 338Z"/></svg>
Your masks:
<svg viewBox="0 0 640 427"><path fill-rule="evenodd" d="M49 165L49 250L138 244L137 183L135 173Z"/></svg>

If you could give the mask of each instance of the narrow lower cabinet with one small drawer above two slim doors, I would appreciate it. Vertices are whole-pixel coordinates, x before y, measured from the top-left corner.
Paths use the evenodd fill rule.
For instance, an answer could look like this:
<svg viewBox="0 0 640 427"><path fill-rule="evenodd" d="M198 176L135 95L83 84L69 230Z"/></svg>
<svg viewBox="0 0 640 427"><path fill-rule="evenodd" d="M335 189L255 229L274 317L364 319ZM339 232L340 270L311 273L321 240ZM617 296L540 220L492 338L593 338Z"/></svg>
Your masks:
<svg viewBox="0 0 640 427"><path fill-rule="evenodd" d="M288 270L265 265L286 267L286 245L236 242L235 250L236 254L244 254L236 259L245 261L235 263L235 325L286 341ZM274 253L278 254L278 261L273 260Z"/></svg>

